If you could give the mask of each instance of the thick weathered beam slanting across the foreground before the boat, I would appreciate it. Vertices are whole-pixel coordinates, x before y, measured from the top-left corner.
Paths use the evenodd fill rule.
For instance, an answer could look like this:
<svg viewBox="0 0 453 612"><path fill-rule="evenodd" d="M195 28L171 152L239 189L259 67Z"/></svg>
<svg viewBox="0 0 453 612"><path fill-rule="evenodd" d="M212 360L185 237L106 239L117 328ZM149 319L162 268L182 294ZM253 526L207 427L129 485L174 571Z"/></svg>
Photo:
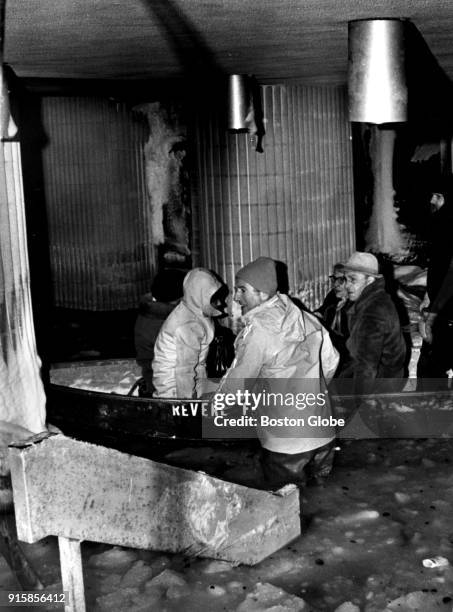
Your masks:
<svg viewBox="0 0 453 612"><path fill-rule="evenodd" d="M12 446L9 459L25 542L55 535L253 565L300 534L296 487L251 489L63 435Z"/></svg>

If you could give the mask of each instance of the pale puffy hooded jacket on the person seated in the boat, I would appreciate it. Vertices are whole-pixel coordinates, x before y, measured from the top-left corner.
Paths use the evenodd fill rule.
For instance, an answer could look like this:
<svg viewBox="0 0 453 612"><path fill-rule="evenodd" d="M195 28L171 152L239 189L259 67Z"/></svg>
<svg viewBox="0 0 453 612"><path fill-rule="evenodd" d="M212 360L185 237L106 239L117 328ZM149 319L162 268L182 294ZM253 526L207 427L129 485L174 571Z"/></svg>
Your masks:
<svg viewBox="0 0 453 612"><path fill-rule="evenodd" d="M184 279L184 297L162 325L154 345L156 397L193 398L204 392L206 356L214 337L211 298L221 283L204 268Z"/></svg>

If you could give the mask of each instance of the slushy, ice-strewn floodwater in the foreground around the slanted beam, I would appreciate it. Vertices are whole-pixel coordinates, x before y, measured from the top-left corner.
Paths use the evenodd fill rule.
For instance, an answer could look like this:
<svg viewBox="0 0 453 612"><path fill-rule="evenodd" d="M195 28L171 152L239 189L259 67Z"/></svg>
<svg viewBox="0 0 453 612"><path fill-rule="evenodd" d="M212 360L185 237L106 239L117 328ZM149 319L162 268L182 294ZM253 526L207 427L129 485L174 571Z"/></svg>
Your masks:
<svg viewBox="0 0 453 612"><path fill-rule="evenodd" d="M342 442L330 479L303 494L302 536L255 567L84 543L87 609L451 612L452 450L442 439ZM210 459L222 477L251 483L254 453L190 449L170 460L206 471ZM23 547L58 586L55 538ZM0 589L13 586L0 560Z"/></svg>

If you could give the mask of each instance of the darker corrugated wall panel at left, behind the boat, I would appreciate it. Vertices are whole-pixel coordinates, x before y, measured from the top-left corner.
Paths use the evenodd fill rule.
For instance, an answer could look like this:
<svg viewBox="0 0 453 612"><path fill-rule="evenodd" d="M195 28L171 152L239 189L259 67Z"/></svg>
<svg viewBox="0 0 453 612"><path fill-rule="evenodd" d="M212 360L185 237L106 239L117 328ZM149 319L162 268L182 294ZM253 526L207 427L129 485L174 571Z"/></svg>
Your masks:
<svg viewBox="0 0 453 612"><path fill-rule="evenodd" d="M56 306L134 308L154 247L144 176L145 117L95 98L44 98L43 151Z"/></svg>

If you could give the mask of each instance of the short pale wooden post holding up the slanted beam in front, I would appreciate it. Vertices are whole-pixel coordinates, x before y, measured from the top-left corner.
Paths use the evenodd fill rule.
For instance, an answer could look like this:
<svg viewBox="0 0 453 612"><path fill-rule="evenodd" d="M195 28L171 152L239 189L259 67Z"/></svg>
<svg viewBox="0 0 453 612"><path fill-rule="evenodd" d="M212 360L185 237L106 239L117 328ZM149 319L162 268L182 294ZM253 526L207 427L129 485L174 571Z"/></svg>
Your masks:
<svg viewBox="0 0 453 612"><path fill-rule="evenodd" d="M63 591L67 593L65 612L85 612L85 589L83 586L82 556L79 540L58 538L60 549L61 579Z"/></svg>

